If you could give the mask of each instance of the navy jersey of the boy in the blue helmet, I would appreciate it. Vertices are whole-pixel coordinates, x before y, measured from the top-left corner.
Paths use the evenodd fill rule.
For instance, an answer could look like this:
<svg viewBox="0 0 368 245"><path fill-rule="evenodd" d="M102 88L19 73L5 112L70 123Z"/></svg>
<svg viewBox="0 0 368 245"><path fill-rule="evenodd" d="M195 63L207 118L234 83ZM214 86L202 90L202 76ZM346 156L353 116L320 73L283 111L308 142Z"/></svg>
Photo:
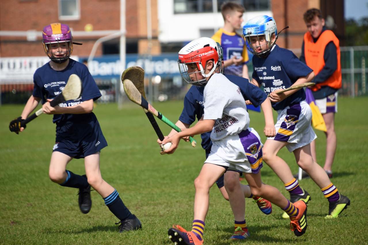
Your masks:
<svg viewBox="0 0 368 245"><path fill-rule="evenodd" d="M301 62L293 52L275 45L266 58L254 55L253 75L258 84L262 84L266 94L277 89L286 89L293 85L300 77L307 76L313 70ZM286 99L271 103L272 108L282 110L288 105L305 100L303 89L298 90Z"/></svg>

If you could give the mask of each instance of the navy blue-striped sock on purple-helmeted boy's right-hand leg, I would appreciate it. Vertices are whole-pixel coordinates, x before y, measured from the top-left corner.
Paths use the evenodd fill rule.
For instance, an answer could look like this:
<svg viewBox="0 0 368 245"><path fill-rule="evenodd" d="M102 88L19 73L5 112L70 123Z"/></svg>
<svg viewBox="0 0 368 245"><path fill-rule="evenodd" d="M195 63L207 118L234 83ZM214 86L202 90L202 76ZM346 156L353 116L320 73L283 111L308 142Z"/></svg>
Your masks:
<svg viewBox="0 0 368 245"><path fill-rule="evenodd" d="M116 190L114 190L109 196L103 198L103 200L105 201L106 206L118 219L134 219L134 216L124 205Z"/></svg>

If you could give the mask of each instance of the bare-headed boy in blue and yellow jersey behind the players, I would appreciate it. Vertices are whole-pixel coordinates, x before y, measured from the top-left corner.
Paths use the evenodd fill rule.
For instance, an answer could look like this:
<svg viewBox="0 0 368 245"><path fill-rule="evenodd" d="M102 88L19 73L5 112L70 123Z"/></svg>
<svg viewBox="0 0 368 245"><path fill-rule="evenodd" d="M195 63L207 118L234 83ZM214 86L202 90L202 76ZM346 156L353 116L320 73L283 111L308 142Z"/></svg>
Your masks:
<svg viewBox="0 0 368 245"><path fill-rule="evenodd" d="M224 27L220 28L212 39L218 42L223 49L224 74L242 76L249 79L248 51L241 35L236 33L243 22L244 7L234 2L226 2L221 6Z"/></svg>

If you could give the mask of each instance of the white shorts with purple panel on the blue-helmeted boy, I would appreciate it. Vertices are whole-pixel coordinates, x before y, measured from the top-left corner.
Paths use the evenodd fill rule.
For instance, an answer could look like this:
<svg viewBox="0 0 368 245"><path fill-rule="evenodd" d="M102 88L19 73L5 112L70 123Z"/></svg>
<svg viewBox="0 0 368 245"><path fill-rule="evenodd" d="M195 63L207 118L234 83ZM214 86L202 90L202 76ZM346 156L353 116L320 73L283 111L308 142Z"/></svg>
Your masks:
<svg viewBox="0 0 368 245"><path fill-rule="evenodd" d="M277 111L276 136L268 139L287 141L289 144L286 148L293 152L317 138L312 129L311 120L312 111L307 102L301 101L291 107L287 106Z"/></svg>

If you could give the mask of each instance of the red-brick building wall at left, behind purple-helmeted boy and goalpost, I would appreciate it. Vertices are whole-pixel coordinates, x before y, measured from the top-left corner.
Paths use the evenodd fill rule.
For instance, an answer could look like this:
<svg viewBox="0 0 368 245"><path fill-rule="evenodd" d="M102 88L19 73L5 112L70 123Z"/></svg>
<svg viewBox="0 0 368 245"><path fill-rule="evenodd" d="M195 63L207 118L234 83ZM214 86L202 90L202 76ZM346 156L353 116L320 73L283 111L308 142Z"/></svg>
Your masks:
<svg viewBox="0 0 368 245"><path fill-rule="evenodd" d="M53 22L68 24L73 31L84 31L86 24L92 24L93 30L120 29L119 0L80 0L81 18L75 21L60 21L58 18L57 0L0 0L0 30L26 31L30 29L40 32L43 26ZM146 1L126 1L126 37L127 39L145 39ZM157 39L158 18L157 0L151 0L152 35ZM101 36L78 37L75 42L83 43L74 46L73 54L88 56L95 41ZM96 55L102 54L102 47ZM26 37L0 37L0 57L42 56L45 55L41 38L28 42Z"/></svg>

